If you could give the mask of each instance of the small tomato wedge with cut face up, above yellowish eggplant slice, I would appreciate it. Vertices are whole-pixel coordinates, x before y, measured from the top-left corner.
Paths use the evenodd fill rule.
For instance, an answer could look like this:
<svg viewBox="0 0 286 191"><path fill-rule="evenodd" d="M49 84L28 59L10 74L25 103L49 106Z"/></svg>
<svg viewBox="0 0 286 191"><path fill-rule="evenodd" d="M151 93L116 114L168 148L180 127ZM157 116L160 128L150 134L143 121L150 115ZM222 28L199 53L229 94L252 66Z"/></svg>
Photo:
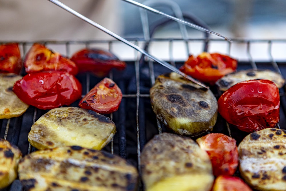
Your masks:
<svg viewBox="0 0 286 191"><path fill-rule="evenodd" d="M113 80L104 78L82 98L79 106L101 114L108 114L118 110L121 100L120 88Z"/></svg>

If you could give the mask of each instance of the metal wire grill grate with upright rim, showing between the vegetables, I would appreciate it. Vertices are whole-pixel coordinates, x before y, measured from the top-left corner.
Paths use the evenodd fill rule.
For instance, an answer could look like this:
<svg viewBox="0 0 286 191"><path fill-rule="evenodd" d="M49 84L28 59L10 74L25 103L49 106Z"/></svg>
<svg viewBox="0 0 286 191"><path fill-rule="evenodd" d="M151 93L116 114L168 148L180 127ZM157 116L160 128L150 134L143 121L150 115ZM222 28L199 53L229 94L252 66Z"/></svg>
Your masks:
<svg viewBox="0 0 286 191"><path fill-rule="evenodd" d="M138 46L145 46L146 41L141 38L128 39ZM188 39L187 45L190 52L202 52L208 44L209 52L220 52L230 54L238 58L238 70L248 68L267 68L280 72L286 76L286 40L233 40L228 42L225 40L206 40L206 39ZM7 43L7 42L0 42ZM30 46L35 42L17 42L21 48L22 55L25 55ZM166 72L169 69L164 68L158 63L142 58L135 50L128 48L126 45L116 40L89 40L89 41L43 41L47 47L61 52L64 55L71 56L75 51L81 48L100 47L105 48L117 55L121 60L125 60L127 68L124 71L113 70L108 77L112 78L123 93L122 103L118 111L107 115L110 117L117 127L117 133L112 142L107 145L104 150L115 153L135 166L140 165L140 154L145 143L155 134L167 131L152 111L149 99L149 89L154 84L156 76ZM150 39L147 47L148 52L157 54L156 50L161 52L156 55L168 61L172 65L179 67L187 59L188 49L184 49L185 39ZM263 50L259 47L259 54L265 58L257 58L256 48L263 46ZM163 47L163 48L162 48ZM168 47L166 50L164 47ZM179 50L177 50L180 47ZM222 48L223 47L223 48ZM284 48L284 49L283 49ZM165 50L165 51L164 51ZM282 52L282 56L277 54ZM177 51L184 52L177 55ZM278 52L277 52L278 51ZM262 53L261 53L262 52ZM196 53L193 53L196 54ZM24 74L24 71L22 71ZM92 74L79 74L77 78L83 85L83 94L86 94L101 79L96 78ZM211 87L212 91L219 97L219 91L216 87ZM280 89L281 92L281 120L278 127L285 129L283 125L286 123L286 96L285 87ZM84 96L84 95L83 95ZM77 106L78 102L71 106ZM29 109L20 117L12 119L0 120L0 136L7 139L12 144L17 145L23 155L35 151L27 141L27 135L31 129L31 125L47 111L36 109L30 106ZM245 133L238 132L235 128L228 125L220 116L215 125L214 132L224 133L237 139L239 143ZM139 169L140 170L140 169ZM23 190L19 180L13 182L11 186L5 190ZM139 190L143 190L141 184Z"/></svg>

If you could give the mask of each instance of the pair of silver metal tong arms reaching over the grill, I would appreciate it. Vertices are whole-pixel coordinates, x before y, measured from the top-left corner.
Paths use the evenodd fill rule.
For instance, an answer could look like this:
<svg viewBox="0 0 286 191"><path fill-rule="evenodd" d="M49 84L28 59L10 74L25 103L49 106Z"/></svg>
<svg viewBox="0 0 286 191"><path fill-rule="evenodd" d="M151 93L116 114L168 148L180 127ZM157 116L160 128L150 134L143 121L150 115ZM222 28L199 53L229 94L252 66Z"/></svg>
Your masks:
<svg viewBox="0 0 286 191"><path fill-rule="evenodd" d="M200 85L200 86L202 86L202 87L204 87L204 88L209 89L209 87L206 86L205 84L203 84L202 82L200 82L200 81L198 81L198 80L195 80L194 78L192 78L192 77L188 76L187 74L181 72L178 68L172 66L172 65L169 64L168 62L165 62L164 60L161 60L160 58L156 58L155 56L152 56L152 55L148 54L145 50L143 50L143 49L140 48L139 46L136 46L135 44L129 42L128 40L122 38L121 36L115 34L114 32L112 32L112 31L106 29L105 27L101 26L100 24L98 24L98 23L92 21L91 19L88 19L88 18L85 17L84 15L78 13L77 11L75 11L74 9L68 7L67 5L65 5L65 4L63 4L63 3L61 3L60 1L58 1L58 0L48 0L48 1L54 3L55 5L61 7L62 9L68 11L69 13L72 13L73 15L75 15L75 16L77 16L78 18L80 18L80 19L86 21L87 23L93 25L94 27L96 27L96 28L98 28L98 29L104 31L105 33L107 33L107 34L109 34L110 36L116 38L117 40L120 40L121 42L127 44L128 46L131 46L132 48L134 48L134 49L136 49L137 51L141 52L141 53L144 54L145 56L148 56L149 58L151 58L151 59L154 60L155 62L158 62L159 64L162 64L162 65L165 66L166 68L168 68L168 69L170 69L170 70L172 70L172 71L174 71L174 72L176 72L176 73L178 73L178 74L184 76L184 77L187 78L188 80L190 80L190 81L192 81L192 82L194 82L194 83L196 83L196 84L198 84L198 85ZM163 12L161 12L161 11L158 11L158 10L153 9L153 8L151 8L151 7L148 7L148 6L145 6L145 5L143 5L143 4L137 3L137 2L135 2L135 1L132 1L132 0L123 0L123 1L132 3L132 4L136 5L136 6L140 6L140 7L144 8L144 9L148 9L148 10L153 11L153 12L155 12L155 13L164 15L164 16L166 16L166 17L168 17L168 18L170 18L170 19L173 19L173 20L175 20L175 21L181 22L181 23L183 23L183 24L187 24L187 25L189 25L189 26L191 26L191 27L195 27L196 29L200 29L200 30L205 31L205 32L208 32L208 33L213 33L213 34L215 34L215 35L217 35L217 36L220 36L220 37L225 38L226 40L229 40L227 37L224 37L224 36L222 36L222 35L220 35L220 34L218 34L218 33L215 33L215 32L213 32L213 31L210 31L210 30L205 29L205 28L203 28L203 27L200 27L200 26L198 26L198 25L194 25L194 24L192 24L192 23L188 23L188 22L186 22L186 21L184 21L184 20L182 20L182 19L179 19L179 18L173 17L173 16L171 16L171 15L165 14L165 13L163 13Z"/></svg>

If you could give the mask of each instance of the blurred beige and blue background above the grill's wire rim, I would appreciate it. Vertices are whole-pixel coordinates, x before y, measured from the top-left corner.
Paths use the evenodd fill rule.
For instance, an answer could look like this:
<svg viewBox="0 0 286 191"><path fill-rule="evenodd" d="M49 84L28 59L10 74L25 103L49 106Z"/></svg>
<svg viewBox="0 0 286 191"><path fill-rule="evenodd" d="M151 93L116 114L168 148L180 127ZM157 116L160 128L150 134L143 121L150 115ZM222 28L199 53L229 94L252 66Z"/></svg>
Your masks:
<svg viewBox="0 0 286 191"><path fill-rule="evenodd" d="M286 38L285 0L166 0L183 15L195 17L210 29L229 38ZM120 0L61 0L61 2L123 37L142 37L139 8ZM167 4L167 3L165 3ZM172 14L166 6L154 8ZM148 13L150 25L164 18ZM190 38L202 33L187 27ZM154 35L177 37L174 21L156 29ZM215 37L212 35L212 37ZM106 39L104 32L67 13L47 0L0 0L0 40Z"/></svg>

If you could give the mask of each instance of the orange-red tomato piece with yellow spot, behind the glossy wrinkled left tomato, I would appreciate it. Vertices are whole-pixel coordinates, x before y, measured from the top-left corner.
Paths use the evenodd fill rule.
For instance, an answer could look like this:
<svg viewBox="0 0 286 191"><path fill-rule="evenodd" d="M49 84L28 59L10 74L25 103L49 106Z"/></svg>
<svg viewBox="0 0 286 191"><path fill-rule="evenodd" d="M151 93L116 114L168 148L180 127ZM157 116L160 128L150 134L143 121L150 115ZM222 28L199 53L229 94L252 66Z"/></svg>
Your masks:
<svg viewBox="0 0 286 191"><path fill-rule="evenodd" d="M30 73L44 71L67 72L76 75L78 67L70 59L53 52L43 44L33 44L24 59L25 71Z"/></svg>

